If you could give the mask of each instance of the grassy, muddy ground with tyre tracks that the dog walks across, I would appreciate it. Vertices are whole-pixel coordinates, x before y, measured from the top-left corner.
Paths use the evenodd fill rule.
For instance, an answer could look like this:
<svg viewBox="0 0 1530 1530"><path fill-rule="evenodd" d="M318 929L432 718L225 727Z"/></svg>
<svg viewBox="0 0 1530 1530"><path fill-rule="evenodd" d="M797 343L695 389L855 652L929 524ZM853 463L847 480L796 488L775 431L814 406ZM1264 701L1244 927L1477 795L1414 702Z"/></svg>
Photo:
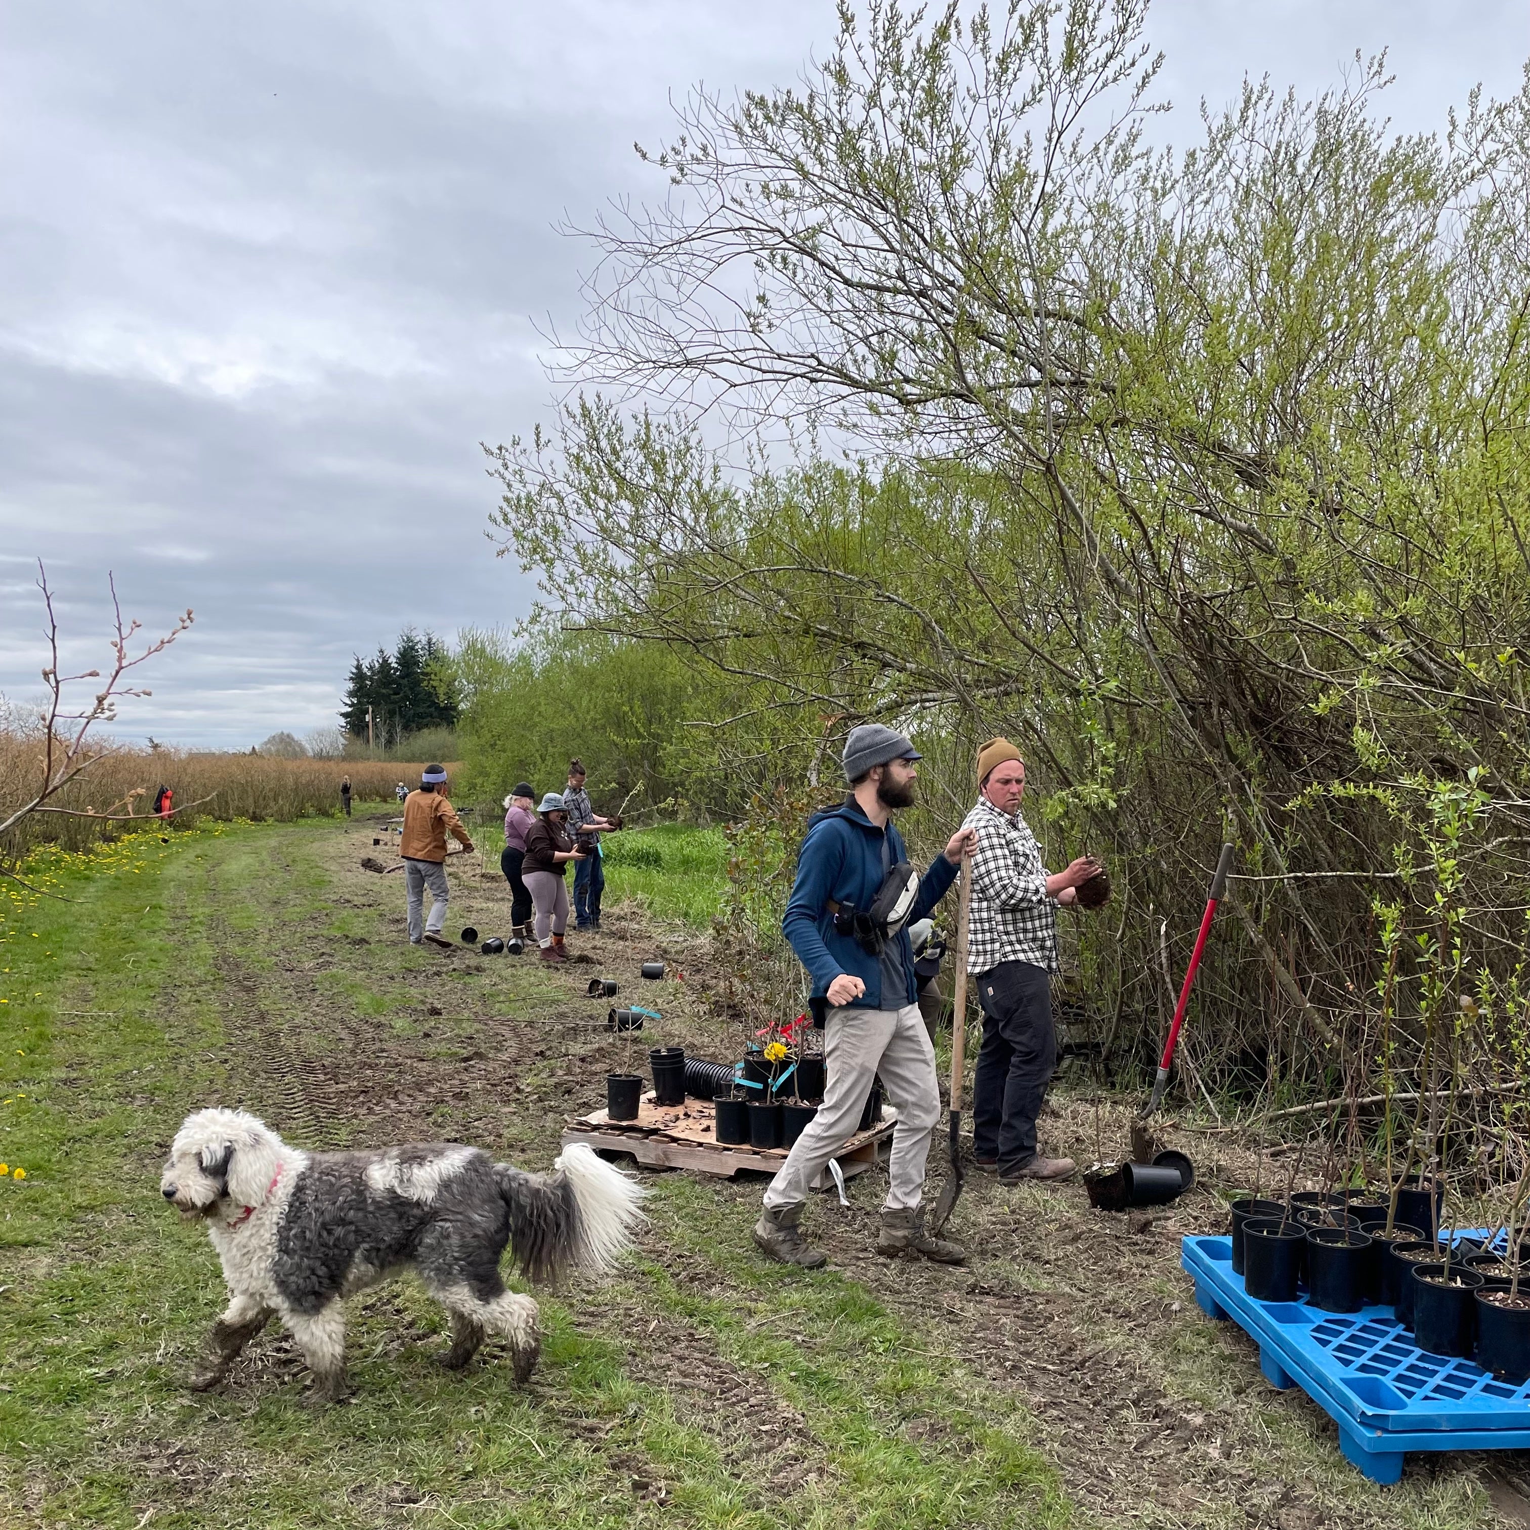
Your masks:
<svg viewBox="0 0 1530 1530"><path fill-rule="evenodd" d="M661 875L687 855L713 875L716 846L653 838L659 866L633 871L673 913L690 892ZM805 1274L753 1253L759 1183L647 1177L650 1226L618 1276L539 1293L525 1388L494 1345L442 1371L441 1314L404 1279L349 1304L346 1405L309 1406L275 1328L223 1391L190 1394L222 1281L158 1193L188 1109L245 1105L309 1148L448 1137L546 1167L624 1060L591 972L626 985L661 955L652 1039L737 1040L699 935L629 903L578 942L594 967L415 950L398 878L358 869L369 849L360 822L210 825L55 857L38 884L72 901L0 900L6 1527L1499 1522L1481 1458L1365 1484L1327 1420L1193 1311L1177 1236L1209 1198L1128 1235L1076 1187L979 1181L953 1229L972 1264L935 1268L868 1252L883 1189L866 1175L849 1209L815 1201L834 1262ZM503 883L471 861L453 877L453 923L494 929ZM1085 1120L1048 1131L1082 1151Z"/></svg>

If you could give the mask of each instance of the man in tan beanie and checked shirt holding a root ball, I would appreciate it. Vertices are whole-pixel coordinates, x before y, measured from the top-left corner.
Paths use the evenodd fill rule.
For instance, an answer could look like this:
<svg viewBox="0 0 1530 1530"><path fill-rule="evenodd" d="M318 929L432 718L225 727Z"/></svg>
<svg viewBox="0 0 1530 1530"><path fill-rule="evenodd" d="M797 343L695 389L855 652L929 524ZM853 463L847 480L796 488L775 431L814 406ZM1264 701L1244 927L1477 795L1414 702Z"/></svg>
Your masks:
<svg viewBox="0 0 1530 1530"><path fill-rule="evenodd" d="M978 831L972 860L967 970L982 1005L982 1047L972 1091L972 1140L978 1167L1001 1184L1065 1180L1071 1158L1042 1158L1036 1117L1057 1065L1051 975L1057 970L1057 904L1099 866L1080 857L1056 875L1021 817L1025 762L1008 739L978 751L978 805L962 828Z"/></svg>

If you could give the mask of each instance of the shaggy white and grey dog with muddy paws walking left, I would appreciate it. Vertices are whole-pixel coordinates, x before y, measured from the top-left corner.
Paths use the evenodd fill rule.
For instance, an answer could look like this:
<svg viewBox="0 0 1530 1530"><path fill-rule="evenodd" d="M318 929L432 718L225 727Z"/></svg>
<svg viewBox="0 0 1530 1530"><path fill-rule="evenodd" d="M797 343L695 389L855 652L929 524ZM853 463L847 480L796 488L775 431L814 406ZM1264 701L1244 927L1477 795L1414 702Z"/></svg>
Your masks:
<svg viewBox="0 0 1530 1530"><path fill-rule="evenodd" d="M629 1247L646 1193L583 1143L554 1169L526 1174L457 1143L309 1154L245 1111L188 1115L159 1187L188 1221L207 1221L230 1294L191 1385L216 1386L277 1316L315 1397L343 1397L341 1304L404 1268L451 1314L444 1365L461 1369L500 1334L526 1380L540 1349L537 1304L505 1288L505 1245L532 1281L604 1271Z"/></svg>

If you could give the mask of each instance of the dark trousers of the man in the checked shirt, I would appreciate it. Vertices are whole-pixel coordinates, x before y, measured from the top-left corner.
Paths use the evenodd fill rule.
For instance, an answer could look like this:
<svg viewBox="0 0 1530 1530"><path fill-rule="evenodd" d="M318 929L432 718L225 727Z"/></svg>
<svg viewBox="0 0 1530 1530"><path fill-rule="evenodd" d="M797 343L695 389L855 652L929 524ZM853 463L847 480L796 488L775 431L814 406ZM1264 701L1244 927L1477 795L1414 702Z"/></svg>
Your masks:
<svg viewBox="0 0 1530 1530"><path fill-rule="evenodd" d="M982 1047L972 1089L972 1146L999 1172L1036 1157L1036 1117L1057 1066L1051 976L1027 961L1001 961L978 975Z"/></svg>

